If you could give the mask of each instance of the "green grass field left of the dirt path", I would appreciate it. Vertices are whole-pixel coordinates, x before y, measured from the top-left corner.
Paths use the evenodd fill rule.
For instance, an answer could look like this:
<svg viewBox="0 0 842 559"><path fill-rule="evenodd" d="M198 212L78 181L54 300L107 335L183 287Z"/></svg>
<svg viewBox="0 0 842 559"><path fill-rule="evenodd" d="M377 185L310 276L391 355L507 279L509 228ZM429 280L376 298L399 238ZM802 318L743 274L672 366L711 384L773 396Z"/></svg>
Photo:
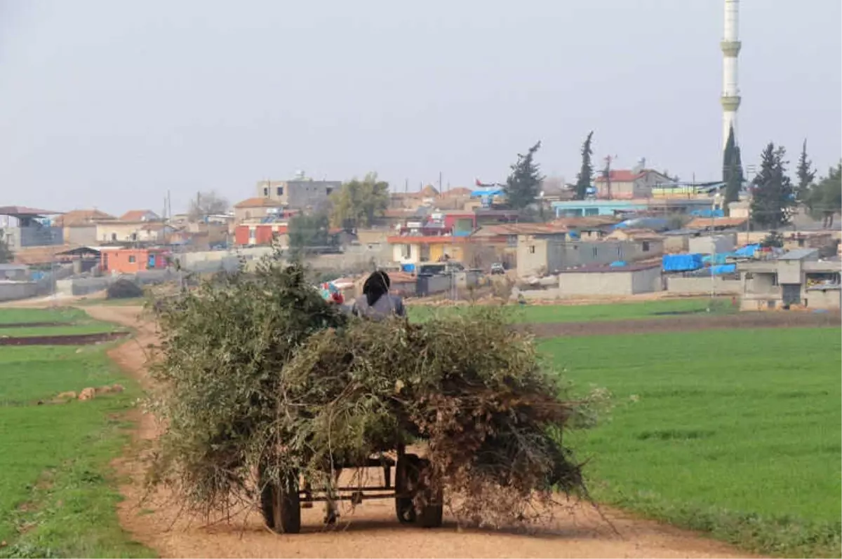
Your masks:
<svg viewBox="0 0 842 559"><path fill-rule="evenodd" d="M29 310L8 316L3 309L7 322L55 319ZM109 361L107 347L0 350L0 541L8 542L0 556L152 556L128 539L115 514L119 493L109 462L126 441L120 418L140 393ZM126 392L36 405L115 382Z"/></svg>

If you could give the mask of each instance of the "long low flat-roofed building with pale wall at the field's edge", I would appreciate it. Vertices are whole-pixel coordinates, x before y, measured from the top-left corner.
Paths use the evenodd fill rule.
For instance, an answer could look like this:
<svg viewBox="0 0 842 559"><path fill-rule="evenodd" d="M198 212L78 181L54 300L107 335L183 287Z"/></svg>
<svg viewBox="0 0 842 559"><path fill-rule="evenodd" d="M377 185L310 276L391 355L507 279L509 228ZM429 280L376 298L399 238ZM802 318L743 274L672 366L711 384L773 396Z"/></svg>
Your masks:
<svg viewBox="0 0 842 559"><path fill-rule="evenodd" d="M558 274L560 297L625 296L661 291L661 266L585 266Z"/></svg>

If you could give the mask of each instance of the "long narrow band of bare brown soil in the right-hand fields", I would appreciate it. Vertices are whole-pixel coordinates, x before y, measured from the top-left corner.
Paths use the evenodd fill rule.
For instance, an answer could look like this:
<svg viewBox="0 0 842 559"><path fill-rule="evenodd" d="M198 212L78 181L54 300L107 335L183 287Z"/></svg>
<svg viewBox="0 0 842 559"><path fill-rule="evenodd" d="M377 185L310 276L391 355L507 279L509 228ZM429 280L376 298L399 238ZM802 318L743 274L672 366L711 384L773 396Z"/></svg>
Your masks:
<svg viewBox="0 0 842 559"><path fill-rule="evenodd" d="M779 311L740 313L720 316L674 316L663 319L615 320L606 322L559 322L526 324L524 328L541 338L558 336L654 334L695 330L751 328L827 328L842 326L842 314Z"/></svg>

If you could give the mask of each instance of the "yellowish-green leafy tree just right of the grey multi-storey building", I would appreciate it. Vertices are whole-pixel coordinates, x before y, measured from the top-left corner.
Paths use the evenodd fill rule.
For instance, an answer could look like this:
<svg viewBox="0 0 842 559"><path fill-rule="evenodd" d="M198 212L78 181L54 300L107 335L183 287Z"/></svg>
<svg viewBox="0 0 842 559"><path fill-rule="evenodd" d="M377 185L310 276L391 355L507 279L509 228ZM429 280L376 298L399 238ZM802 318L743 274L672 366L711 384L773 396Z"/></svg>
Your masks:
<svg viewBox="0 0 842 559"><path fill-rule="evenodd" d="M330 222L334 227L370 227L389 208L389 183L378 181L377 173L370 172L362 181L345 182L338 192L333 192L331 201Z"/></svg>

